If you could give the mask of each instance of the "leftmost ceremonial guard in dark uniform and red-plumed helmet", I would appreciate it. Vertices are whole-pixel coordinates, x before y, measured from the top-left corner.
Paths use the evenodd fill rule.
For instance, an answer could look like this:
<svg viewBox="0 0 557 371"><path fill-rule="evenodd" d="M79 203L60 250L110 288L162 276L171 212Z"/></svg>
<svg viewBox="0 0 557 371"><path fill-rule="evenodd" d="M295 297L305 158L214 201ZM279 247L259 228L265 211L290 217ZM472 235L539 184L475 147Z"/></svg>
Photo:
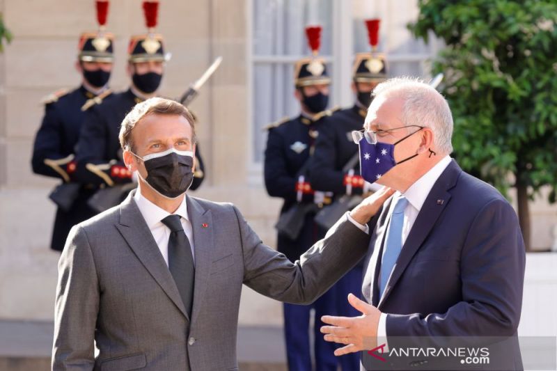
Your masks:
<svg viewBox="0 0 557 371"><path fill-rule="evenodd" d="M108 81L114 57L113 35L105 31L109 1L97 0L96 8L99 30L82 33L79 38L76 68L81 74L81 86L71 91L58 90L43 100L45 116L33 146L33 172L62 180L50 194L58 205L50 245L56 251L63 250L74 224L95 214L87 201L97 187L78 182L74 176L74 148L85 116L81 106L110 92Z"/></svg>

